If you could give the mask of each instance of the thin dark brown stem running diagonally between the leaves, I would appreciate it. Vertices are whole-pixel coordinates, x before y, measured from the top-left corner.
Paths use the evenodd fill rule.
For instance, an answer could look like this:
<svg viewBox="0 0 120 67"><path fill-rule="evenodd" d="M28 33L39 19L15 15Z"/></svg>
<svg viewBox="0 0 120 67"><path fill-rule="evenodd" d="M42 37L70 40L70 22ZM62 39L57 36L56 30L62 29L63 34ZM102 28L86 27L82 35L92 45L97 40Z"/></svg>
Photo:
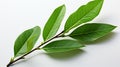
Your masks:
<svg viewBox="0 0 120 67"><path fill-rule="evenodd" d="M9 66L12 65L13 63L15 63L15 62L17 62L17 61L23 59L25 56L29 55L30 53L32 53L32 52L38 50L41 46L43 46L44 44L50 42L51 40L53 40L53 39L55 39L55 38L58 38L58 37L61 37L63 33L64 33L64 31L62 31L62 32L59 33L58 35L54 36L53 38L51 38L51 39L45 41L44 43L40 44L38 47L34 48L34 49L31 50L30 52L28 52L28 53L22 55L21 57L15 59L14 61L9 62L9 63L7 64L7 67L9 67Z"/></svg>

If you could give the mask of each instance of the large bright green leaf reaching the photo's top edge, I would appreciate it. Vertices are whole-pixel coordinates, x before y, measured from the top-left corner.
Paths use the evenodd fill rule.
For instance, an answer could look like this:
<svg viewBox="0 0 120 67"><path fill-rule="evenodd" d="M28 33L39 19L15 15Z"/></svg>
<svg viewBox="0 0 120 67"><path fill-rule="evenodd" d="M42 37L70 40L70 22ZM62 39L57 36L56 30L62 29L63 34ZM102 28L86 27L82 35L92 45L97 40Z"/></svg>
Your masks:
<svg viewBox="0 0 120 67"><path fill-rule="evenodd" d="M77 11L69 16L66 21L64 30L69 30L79 26L82 23L93 20L100 12L104 0L94 0L86 5L81 6Z"/></svg>

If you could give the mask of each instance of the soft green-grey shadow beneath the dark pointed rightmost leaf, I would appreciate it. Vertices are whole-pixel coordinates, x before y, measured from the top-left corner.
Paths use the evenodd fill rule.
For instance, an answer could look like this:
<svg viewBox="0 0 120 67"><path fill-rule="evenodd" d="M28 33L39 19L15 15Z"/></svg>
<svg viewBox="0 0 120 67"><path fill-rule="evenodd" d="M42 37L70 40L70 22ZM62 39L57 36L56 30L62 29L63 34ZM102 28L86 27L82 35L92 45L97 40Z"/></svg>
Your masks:
<svg viewBox="0 0 120 67"><path fill-rule="evenodd" d="M116 35L115 32L110 32L109 34L93 41L93 42L86 42L86 45L94 45L94 44L98 44L98 43L104 43L104 42L108 42L110 40L112 40L114 38L114 36Z"/></svg>

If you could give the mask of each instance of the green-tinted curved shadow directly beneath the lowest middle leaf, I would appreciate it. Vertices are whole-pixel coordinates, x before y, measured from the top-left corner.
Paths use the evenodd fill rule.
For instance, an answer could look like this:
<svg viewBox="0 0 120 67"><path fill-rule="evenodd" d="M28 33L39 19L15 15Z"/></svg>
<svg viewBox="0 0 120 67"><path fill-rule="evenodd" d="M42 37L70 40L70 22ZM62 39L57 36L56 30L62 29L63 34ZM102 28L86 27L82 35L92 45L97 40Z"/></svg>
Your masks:
<svg viewBox="0 0 120 67"><path fill-rule="evenodd" d="M84 50L76 49L76 50L72 50L72 51L68 51L68 52L46 53L46 54L53 59L67 60L67 59L74 58L78 55L82 55L83 53L85 53Z"/></svg>

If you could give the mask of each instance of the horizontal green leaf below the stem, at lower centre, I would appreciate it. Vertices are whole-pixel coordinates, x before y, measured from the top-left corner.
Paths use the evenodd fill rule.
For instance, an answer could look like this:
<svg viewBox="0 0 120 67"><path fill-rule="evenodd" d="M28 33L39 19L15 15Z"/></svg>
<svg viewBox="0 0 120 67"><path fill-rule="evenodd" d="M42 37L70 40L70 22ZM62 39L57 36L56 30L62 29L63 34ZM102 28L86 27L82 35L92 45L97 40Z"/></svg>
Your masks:
<svg viewBox="0 0 120 67"><path fill-rule="evenodd" d="M57 40L53 41L46 46L43 47L43 49L48 53L56 53L56 52L66 52L75 50L78 48L83 47L84 45L80 44L78 41L75 40Z"/></svg>

